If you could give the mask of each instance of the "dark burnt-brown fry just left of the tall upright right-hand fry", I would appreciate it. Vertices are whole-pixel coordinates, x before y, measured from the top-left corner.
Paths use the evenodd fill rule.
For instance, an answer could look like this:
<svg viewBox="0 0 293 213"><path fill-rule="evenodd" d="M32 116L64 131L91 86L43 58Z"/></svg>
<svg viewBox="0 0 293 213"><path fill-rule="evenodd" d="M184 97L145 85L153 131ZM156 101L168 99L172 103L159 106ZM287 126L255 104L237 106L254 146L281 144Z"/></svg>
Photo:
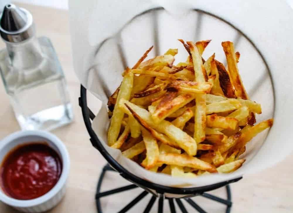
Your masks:
<svg viewBox="0 0 293 213"><path fill-rule="evenodd" d="M224 95L228 98L236 98L235 89L231 83L229 73L226 71L225 66L217 60L215 60L215 62L219 72L220 86L224 92Z"/></svg>

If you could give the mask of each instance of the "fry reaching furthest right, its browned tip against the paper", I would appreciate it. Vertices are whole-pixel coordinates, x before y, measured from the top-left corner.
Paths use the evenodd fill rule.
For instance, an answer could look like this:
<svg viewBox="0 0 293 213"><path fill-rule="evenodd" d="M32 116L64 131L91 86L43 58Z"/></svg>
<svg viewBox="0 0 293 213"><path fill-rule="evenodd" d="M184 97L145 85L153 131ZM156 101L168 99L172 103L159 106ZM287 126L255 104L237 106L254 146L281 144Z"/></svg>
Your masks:
<svg viewBox="0 0 293 213"><path fill-rule="evenodd" d="M240 138L237 141L236 146L233 149L234 150L241 149L258 133L271 127L273 125L273 122L274 122L273 119L268 119L266 121L260 122L259 124L256 124L255 126L252 126L251 128L247 129L246 131L242 132Z"/></svg>

